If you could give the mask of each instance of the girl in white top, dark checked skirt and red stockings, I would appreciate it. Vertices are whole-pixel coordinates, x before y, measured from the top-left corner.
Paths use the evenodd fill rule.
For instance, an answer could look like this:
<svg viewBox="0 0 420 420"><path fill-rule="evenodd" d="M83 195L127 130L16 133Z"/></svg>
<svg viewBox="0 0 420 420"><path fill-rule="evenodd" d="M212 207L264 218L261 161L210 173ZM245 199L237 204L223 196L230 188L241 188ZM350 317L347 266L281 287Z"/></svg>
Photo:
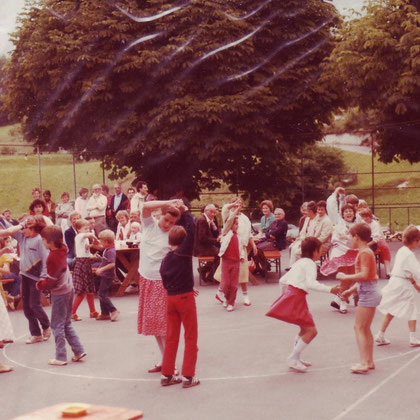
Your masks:
<svg viewBox="0 0 420 420"><path fill-rule="evenodd" d="M77 309L84 297L89 305L90 318L96 318L99 314L95 309L95 283L92 275L92 254L90 253L89 239L98 241L95 234L91 232L90 223L87 220L78 220L75 223L77 235L74 238L76 262L73 269L73 282L76 297L73 303L72 319L81 321L77 315Z"/></svg>

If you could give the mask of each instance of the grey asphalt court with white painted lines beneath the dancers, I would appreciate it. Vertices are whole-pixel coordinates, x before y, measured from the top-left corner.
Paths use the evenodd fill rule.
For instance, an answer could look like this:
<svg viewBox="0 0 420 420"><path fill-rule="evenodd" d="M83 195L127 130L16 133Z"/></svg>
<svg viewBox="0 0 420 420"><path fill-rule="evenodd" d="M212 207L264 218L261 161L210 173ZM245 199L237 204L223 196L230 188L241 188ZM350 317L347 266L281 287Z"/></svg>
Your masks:
<svg viewBox="0 0 420 420"><path fill-rule="evenodd" d="M392 244L393 254L400 244ZM287 267L284 253L282 267ZM323 280L333 285L334 280ZM381 287L386 280L381 280ZM228 313L215 300L216 286L202 286L197 298L201 384L182 389L161 387L159 374L147 369L159 361L153 337L136 333L137 296L113 298L118 322L87 318L74 324L88 356L80 363L49 366L54 342L26 345L27 321L22 311L10 313L17 340L2 350L0 362L14 371L0 375L0 419L10 419L60 402L83 402L139 409L148 419L417 419L420 348L408 345L407 323L394 320L389 346L375 347L376 369L350 374L358 361L353 333L355 308L342 315L330 307L332 295L311 292L308 303L318 336L302 357L313 364L293 373L285 364L298 328L264 316L279 296L277 275L250 286L250 307L241 294ZM420 295L418 295L417 303ZM47 308L50 313L50 308ZM375 333L382 321L377 313ZM419 335L420 337L420 335ZM183 345L178 351L182 364ZM70 358L69 354L69 358ZM88 417L87 417L88 418Z"/></svg>

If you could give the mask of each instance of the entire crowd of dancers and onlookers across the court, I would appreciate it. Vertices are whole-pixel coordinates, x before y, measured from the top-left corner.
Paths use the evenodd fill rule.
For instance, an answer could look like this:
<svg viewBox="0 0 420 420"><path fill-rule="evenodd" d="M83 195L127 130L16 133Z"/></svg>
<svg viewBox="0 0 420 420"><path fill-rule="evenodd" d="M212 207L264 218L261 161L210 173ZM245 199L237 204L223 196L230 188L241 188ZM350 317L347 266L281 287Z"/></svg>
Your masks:
<svg viewBox="0 0 420 420"><path fill-rule="evenodd" d="M138 323L139 334L151 335L161 352L161 359L149 369L161 373L161 385L182 383L189 388L200 383L195 376L197 362L197 309L194 288L193 256L212 257L201 267L206 282L218 281L215 295L227 312L235 310L238 289L242 302L251 305L248 293L250 271L264 276L270 269L265 251L282 251L287 247L288 223L285 212L274 208L270 200L260 204L262 217L258 227L243 213L243 201L233 198L221 209L208 204L194 217L187 200L157 200L148 194L145 182L130 187L127 195L121 185L110 195L105 186L93 185L88 197L86 188L74 206L69 195L61 203L51 201L49 191L33 190L29 213L18 221L5 210L0 218L1 273L10 279L5 288L11 309L23 301L29 323L27 344L56 340L56 355L49 363L67 364L66 340L78 362L86 356L72 322L80 321L77 310L86 297L89 316L98 321L117 321L120 312L109 298L110 288L118 278L116 241L139 245ZM220 211L220 214L219 214ZM326 201L310 201L301 207L299 235L290 245L290 266L280 279L281 296L267 316L296 324L300 331L288 366L305 372L311 365L301 358L305 347L317 334L306 304L309 290L334 295L331 306L347 312L349 297L357 305L355 331L360 363L352 373L374 369L373 342L389 344L385 331L393 317L408 320L411 346L419 346L415 337L417 309L414 290L420 290L420 265L413 251L420 244L420 231L409 226L403 235L404 246L398 251L394 269L390 269L390 252L383 240L380 225L363 200L345 195L338 187ZM13 243L13 241L16 241ZM18 252L16 249L18 248ZM389 283L382 294L378 287L376 255L385 265ZM12 265L18 266L13 272ZM328 287L317 281L318 272L336 274L339 283ZM133 285L133 287L137 287ZM51 296L51 321L41 304L42 291ZM21 293L21 295L20 295ZM97 293L100 312L95 307ZM381 303L382 299L382 303ZM376 307L385 314L375 339L370 326ZM181 376L175 367L184 327L185 352ZM0 302L0 345L12 341L13 331L3 301ZM12 368L0 365L1 372Z"/></svg>

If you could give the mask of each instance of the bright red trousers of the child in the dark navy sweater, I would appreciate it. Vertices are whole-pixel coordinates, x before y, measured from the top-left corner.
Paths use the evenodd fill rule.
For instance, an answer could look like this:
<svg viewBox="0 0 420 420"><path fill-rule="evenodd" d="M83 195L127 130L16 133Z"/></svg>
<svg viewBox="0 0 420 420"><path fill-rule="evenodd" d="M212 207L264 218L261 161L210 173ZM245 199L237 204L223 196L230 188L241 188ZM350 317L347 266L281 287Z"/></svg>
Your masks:
<svg viewBox="0 0 420 420"><path fill-rule="evenodd" d="M198 352L197 308L195 306L194 292L168 296L167 308L168 327L166 330L162 375L170 376L174 374L182 324L184 326L185 348L181 372L183 376L194 376Z"/></svg>

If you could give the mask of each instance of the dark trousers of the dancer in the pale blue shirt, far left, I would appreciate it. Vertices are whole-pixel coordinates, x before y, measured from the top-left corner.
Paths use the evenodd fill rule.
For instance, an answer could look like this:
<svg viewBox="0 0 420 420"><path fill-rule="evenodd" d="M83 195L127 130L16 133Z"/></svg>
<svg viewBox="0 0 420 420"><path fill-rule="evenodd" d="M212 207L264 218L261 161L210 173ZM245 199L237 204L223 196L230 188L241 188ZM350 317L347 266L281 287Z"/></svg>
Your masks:
<svg viewBox="0 0 420 420"><path fill-rule="evenodd" d="M29 331L32 336L42 335L42 329L50 326L50 320L41 305L41 292L35 287L36 280L22 276L23 313L29 321Z"/></svg>

